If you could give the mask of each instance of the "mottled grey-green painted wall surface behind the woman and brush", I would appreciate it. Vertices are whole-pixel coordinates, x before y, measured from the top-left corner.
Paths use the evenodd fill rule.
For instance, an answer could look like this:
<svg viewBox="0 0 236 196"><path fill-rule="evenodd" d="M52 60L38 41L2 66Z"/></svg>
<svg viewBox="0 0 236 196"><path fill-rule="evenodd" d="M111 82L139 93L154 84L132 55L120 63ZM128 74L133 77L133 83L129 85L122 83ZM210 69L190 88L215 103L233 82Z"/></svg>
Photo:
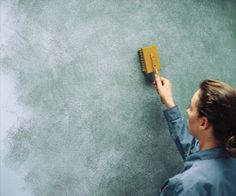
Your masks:
<svg viewBox="0 0 236 196"><path fill-rule="evenodd" d="M183 115L201 80L236 85L233 0L3 0L1 9L1 71L30 114L8 130L4 163L24 168L33 196L153 196L181 171L140 47L158 45Z"/></svg>

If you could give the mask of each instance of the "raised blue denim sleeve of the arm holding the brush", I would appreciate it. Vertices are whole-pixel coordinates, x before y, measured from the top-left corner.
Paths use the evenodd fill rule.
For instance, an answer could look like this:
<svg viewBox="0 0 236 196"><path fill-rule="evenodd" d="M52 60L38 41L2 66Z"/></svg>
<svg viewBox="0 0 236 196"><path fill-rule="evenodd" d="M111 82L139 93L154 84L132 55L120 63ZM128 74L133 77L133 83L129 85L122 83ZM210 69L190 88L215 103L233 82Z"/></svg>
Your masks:
<svg viewBox="0 0 236 196"><path fill-rule="evenodd" d="M188 155L198 150L198 140L189 134L187 120L181 116L178 106L164 110L164 116L170 135L185 160Z"/></svg>

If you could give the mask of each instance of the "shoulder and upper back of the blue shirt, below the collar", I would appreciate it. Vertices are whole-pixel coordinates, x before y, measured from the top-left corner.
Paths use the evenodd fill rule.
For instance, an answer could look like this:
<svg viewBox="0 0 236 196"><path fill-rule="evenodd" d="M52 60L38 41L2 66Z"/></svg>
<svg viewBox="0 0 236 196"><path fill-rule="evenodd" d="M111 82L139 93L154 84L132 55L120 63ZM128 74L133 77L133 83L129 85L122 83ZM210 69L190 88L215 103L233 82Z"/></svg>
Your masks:
<svg viewBox="0 0 236 196"><path fill-rule="evenodd" d="M210 159L185 163L185 169L168 180L162 195L234 195L236 168L231 167L231 163L229 167L221 165L221 161Z"/></svg>

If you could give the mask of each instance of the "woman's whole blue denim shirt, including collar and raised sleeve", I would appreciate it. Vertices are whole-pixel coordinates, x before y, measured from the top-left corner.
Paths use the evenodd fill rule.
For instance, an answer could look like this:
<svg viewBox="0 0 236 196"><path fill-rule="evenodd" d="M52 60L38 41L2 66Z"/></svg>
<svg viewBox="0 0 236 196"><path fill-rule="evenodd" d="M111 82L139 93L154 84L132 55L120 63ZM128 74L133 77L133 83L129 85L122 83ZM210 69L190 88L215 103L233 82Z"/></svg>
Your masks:
<svg viewBox="0 0 236 196"><path fill-rule="evenodd" d="M187 120L178 106L164 111L170 134L184 160L184 168L167 180L161 196L236 196L236 158L223 148L199 150L199 142L188 132Z"/></svg>

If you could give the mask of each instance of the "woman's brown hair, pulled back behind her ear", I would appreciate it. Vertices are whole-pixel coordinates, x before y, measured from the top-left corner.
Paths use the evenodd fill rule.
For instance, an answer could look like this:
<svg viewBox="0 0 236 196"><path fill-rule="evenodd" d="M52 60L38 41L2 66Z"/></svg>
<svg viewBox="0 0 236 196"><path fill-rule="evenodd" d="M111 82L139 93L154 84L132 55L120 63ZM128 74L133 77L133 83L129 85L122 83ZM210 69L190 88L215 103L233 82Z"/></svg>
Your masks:
<svg viewBox="0 0 236 196"><path fill-rule="evenodd" d="M198 115L209 120L215 138L231 156L236 156L236 89L222 81L204 80L200 84Z"/></svg>

